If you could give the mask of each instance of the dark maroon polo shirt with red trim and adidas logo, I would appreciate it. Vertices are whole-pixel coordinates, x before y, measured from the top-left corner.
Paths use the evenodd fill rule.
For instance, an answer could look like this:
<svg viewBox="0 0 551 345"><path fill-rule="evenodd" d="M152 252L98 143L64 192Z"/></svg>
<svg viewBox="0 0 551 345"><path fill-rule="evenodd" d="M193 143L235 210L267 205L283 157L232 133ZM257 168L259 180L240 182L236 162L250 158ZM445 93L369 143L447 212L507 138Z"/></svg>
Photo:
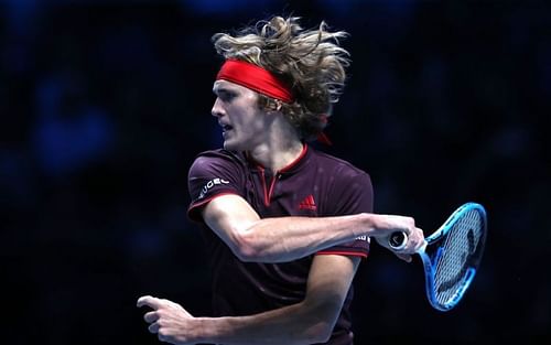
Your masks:
<svg viewBox="0 0 551 345"><path fill-rule="evenodd" d="M204 224L201 209L213 198L236 194L261 218L324 217L372 212L369 175L350 163L304 145L301 155L271 174L242 153L201 153L188 175L191 219L202 223L213 269L215 315L250 315L301 302L313 256L282 263L241 262ZM367 257L369 241L358 238L315 255ZM348 291L327 344L352 344Z"/></svg>

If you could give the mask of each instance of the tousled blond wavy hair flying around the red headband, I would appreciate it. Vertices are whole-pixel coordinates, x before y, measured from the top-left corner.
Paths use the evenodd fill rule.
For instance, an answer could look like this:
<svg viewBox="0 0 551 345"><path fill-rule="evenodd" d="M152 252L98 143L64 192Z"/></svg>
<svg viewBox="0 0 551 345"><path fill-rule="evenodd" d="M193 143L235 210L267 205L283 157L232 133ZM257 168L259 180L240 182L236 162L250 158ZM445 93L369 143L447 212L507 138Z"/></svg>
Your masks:
<svg viewBox="0 0 551 345"><path fill-rule="evenodd" d="M349 54L339 46L344 31L329 32L322 22L317 29L304 30L300 18L273 17L239 30L235 35L213 35L218 54L256 64L289 85L292 104L279 104L260 95L266 109L281 106L281 111L299 130L302 139L312 140L323 131L332 105L338 101L346 79Z"/></svg>

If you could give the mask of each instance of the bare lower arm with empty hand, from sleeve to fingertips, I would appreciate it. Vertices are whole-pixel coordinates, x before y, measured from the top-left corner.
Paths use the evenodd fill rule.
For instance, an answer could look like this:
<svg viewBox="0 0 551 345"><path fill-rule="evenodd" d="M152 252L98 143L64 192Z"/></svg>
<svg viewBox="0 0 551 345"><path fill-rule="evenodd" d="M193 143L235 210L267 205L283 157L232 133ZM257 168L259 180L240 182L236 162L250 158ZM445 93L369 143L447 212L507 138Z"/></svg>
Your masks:
<svg viewBox="0 0 551 345"><path fill-rule="evenodd" d="M247 316L194 317L169 300L142 297L149 331L171 344L313 344L326 342L335 326L360 258L314 257L306 297L296 304Z"/></svg>

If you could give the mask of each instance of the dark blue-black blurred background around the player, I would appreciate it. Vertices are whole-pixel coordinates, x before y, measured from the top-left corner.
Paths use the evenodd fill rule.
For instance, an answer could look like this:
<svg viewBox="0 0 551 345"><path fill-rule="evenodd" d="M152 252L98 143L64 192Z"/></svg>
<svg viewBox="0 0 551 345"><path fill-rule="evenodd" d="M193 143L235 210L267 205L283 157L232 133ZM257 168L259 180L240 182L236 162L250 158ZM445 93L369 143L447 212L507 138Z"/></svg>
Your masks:
<svg viewBox="0 0 551 345"><path fill-rule="evenodd" d="M374 246L356 278L357 344L543 344L551 7L545 1L0 0L2 344L158 344L142 294L209 313L185 211L209 116L210 35L270 14L352 35L322 150L370 173L376 212L426 233L467 201L489 236L452 312L419 260Z"/></svg>

